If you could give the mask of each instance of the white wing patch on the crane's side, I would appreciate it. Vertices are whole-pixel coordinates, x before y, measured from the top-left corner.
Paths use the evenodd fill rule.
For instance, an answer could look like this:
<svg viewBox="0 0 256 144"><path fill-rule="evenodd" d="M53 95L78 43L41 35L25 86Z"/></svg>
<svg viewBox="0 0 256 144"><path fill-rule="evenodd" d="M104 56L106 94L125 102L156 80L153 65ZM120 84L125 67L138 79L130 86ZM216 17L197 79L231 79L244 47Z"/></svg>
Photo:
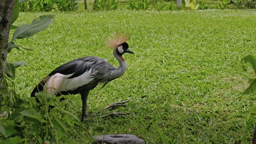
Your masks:
<svg viewBox="0 0 256 144"><path fill-rule="evenodd" d="M73 74L64 75L56 73L52 75L44 86L44 88L46 88L46 92L48 94L58 94L59 92L74 90L80 86L88 84L94 79L89 78L89 76L92 75L92 70L88 70L78 77L69 78Z"/></svg>

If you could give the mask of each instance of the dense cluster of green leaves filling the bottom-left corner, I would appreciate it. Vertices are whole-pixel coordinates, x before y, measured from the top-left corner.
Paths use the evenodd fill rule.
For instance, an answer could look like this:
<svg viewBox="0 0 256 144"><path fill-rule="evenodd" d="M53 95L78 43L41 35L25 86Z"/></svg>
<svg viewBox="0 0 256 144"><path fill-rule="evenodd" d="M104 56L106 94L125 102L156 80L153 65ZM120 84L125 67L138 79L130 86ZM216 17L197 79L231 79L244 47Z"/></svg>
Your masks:
<svg viewBox="0 0 256 144"><path fill-rule="evenodd" d="M8 118L0 122L0 132L4 136L1 143L9 144L10 141L14 141L19 144L32 141L39 144L54 144L61 139L70 144L65 136L67 126L82 126L82 123L78 116L70 112L74 108L72 102L65 100L61 103L60 98L44 92L37 93L36 98L22 97L15 91L11 95L3 95L1 112L7 109L12 112L8 112ZM40 105L36 101L40 101ZM49 110L49 106L54 108Z"/></svg>

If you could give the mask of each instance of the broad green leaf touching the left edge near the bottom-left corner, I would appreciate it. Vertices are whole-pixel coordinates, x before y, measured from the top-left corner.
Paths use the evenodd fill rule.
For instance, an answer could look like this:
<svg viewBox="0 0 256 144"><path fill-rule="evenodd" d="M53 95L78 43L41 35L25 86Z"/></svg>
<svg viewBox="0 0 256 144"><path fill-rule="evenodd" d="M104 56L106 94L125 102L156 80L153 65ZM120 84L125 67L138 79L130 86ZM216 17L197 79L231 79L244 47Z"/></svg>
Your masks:
<svg viewBox="0 0 256 144"><path fill-rule="evenodd" d="M17 132L14 129L15 124L12 124L8 121L11 121L11 120L7 120L7 124L4 124L3 122L0 122L0 132L4 135L4 137L9 137L12 134Z"/></svg>

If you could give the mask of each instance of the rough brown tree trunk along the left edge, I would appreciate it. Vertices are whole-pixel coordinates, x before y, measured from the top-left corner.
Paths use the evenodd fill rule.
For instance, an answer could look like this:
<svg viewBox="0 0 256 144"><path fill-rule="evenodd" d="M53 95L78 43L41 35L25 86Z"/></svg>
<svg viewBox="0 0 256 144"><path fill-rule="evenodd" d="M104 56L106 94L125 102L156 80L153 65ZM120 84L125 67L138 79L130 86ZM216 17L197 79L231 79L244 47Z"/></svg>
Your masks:
<svg viewBox="0 0 256 144"><path fill-rule="evenodd" d="M0 103L6 75L6 56L15 0L0 0Z"/></svg>

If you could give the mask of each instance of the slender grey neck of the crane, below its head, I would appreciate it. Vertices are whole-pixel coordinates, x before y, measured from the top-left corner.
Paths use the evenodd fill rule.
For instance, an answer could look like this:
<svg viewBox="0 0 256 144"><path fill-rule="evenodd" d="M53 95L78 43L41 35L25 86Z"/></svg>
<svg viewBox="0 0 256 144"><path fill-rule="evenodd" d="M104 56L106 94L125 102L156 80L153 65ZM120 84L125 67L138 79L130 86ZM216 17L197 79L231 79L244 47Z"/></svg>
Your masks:
<svg viewBox="0 0 256 144"><path fill-rule="evenodd" d="M115 77L118 78L118 77L122 76L125 73L125 71L126 71L126 62L121 60L121 58L118 55L116 49L113 50L113 55L116 58L116 60L119 62L119 67L116 68L116 70L114 70L115 71L114 73L116 73Z"/></svg>

